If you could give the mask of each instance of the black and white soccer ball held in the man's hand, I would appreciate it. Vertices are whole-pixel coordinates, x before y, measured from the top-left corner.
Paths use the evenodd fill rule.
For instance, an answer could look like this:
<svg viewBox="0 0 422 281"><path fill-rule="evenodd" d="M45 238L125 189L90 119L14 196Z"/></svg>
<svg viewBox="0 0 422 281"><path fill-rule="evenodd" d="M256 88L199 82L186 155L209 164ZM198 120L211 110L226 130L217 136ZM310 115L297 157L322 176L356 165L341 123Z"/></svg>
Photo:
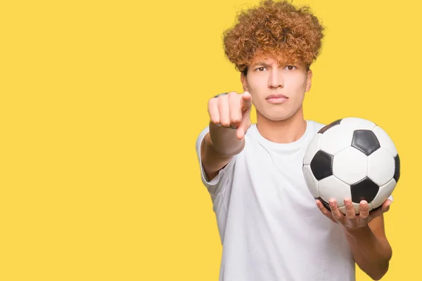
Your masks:
<svg viewBox="0 0 422 281"><path fill-rule="evenodd" d="M373 122L347 117L324 126L307 147L302 165L305 182L315 199L330 209L335 198L345 214L345 197L354 212L366 200L369 211L381 207L400 177L400 159L390 136Z"/></svg>

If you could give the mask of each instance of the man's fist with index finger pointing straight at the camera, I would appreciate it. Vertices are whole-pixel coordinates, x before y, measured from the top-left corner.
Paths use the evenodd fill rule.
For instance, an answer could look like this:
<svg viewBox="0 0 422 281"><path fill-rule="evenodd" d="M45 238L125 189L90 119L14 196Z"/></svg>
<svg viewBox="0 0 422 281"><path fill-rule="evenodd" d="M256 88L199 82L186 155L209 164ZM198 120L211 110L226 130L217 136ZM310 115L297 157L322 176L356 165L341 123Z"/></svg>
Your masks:
<svg viewBox="0 0 422 281"><path fill-rule="evenodd" d="M212 123L236 129L236 137L243 140L250 127L251 107L252 96L250 93L230 92L217 98L211 98L208 101L208 114Z"/></svg>

